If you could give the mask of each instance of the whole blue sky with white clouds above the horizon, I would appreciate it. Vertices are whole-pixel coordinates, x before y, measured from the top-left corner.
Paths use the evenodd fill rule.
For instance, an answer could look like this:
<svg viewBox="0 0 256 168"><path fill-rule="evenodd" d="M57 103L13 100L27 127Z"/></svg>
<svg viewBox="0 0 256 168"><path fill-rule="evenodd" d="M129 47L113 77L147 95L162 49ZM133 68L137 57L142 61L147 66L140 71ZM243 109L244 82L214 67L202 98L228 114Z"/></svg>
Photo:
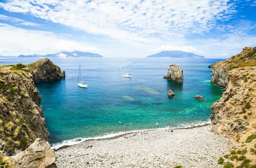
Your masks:
<svg viewBox="0 0 256 168"><path fill-rule="evenodd" d="M80 50L228 58L256 46L256 0L0 0L0 55Z"/></svg>

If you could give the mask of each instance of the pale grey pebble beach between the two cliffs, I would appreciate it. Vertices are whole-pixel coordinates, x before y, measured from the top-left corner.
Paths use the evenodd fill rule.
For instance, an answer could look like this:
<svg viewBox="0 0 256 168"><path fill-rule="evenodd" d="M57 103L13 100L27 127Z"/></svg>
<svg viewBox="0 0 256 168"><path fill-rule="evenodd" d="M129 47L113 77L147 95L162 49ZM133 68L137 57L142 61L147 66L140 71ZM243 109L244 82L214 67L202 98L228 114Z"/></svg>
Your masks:
<svg viewBox="0 0 256 168"><path fill-rule="evenodd" d="M56 151L64 167L223 167L218 159L232 143L210 132L192 129L150 130L105 140L89 140Z"/></svg>

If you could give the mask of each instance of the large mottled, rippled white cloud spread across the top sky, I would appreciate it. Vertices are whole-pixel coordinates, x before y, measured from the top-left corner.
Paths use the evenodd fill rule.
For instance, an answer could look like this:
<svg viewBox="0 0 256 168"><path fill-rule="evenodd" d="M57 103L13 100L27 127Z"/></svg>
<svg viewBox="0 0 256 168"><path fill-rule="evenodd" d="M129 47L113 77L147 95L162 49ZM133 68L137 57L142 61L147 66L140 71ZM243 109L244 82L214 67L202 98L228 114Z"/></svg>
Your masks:
<svg viewBox="0 0 256 168"><path fill-rule="evenodd" d="M8 1L0 4L11 12L29 12L36 17L72 26L88 33L118 39L145 41L154 34L184 37L214 28L234 11L228 0L161 1Z"/></svg>

